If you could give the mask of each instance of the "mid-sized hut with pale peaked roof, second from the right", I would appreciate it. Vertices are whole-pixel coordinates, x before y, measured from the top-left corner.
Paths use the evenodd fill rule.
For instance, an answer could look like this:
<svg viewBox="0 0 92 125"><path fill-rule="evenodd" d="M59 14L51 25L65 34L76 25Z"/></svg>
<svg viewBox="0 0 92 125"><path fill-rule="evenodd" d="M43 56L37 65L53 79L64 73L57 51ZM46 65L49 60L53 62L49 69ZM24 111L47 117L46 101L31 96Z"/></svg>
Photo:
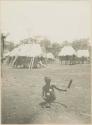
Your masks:
<svg viewBox="0 0 92 125"><path fill-rule="evenodd" d="M64 46L58 54L61 64L75 64L76 51L72 46Z"/></svg>

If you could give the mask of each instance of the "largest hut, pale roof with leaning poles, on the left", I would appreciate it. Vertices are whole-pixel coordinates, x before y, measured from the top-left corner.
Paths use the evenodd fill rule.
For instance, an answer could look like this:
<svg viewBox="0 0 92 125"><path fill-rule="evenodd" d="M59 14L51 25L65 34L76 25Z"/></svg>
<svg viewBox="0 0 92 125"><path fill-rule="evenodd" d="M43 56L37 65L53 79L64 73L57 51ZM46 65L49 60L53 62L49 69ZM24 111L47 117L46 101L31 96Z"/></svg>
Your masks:
<svg viewBox="0 0 92 125"><path fill-rule="evenodd" d="M39 44L21 44L9 53L9 64L14 67L32 69L39 62L40 66L43 65L41 61L42 55L43 52Z"/></svg>

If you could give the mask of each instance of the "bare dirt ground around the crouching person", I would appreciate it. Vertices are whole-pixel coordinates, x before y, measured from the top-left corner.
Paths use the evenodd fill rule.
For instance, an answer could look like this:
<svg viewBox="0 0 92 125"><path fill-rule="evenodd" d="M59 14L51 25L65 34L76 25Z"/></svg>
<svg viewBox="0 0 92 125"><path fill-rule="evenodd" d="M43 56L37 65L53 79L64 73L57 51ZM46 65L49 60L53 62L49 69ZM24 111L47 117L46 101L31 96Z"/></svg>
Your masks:
<svg viewBox="0 0 92 125"><path fill-rule="evenodd" d="M90 123L91 90L90 65L49 64L41 69L12 69L2 66L2 124L37 123ZM66 88L67 92L56 92L58 103L51 108L41 108L44 76L52 83Z"/></svg>

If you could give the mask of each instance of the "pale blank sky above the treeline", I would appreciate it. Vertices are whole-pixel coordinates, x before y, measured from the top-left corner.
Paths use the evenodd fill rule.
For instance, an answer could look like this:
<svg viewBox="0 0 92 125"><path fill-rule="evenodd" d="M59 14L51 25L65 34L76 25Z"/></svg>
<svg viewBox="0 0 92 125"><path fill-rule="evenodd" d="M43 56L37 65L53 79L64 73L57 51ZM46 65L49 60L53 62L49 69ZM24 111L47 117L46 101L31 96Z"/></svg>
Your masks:
<svg viewBox="0 0 92 125"><path fill-rule="evenodd" d="M52 42L90 37L88 1L1 1L1 31L19 42L44 36Z"/></svg>

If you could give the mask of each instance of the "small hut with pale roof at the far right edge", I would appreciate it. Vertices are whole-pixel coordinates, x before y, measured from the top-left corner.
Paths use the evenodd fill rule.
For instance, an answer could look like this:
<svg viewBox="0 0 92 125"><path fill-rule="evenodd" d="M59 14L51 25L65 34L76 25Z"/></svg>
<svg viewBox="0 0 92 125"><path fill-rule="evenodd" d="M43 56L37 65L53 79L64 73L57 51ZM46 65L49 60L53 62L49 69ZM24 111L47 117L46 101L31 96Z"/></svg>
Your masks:
<svg viewBox="0 0 92 125"><path fill-rule="evenodd" d="M89 63L90 58L89 58L89 51L88 50L78 50L77 51L77 58L78 58L78 63Z"/></svg>

